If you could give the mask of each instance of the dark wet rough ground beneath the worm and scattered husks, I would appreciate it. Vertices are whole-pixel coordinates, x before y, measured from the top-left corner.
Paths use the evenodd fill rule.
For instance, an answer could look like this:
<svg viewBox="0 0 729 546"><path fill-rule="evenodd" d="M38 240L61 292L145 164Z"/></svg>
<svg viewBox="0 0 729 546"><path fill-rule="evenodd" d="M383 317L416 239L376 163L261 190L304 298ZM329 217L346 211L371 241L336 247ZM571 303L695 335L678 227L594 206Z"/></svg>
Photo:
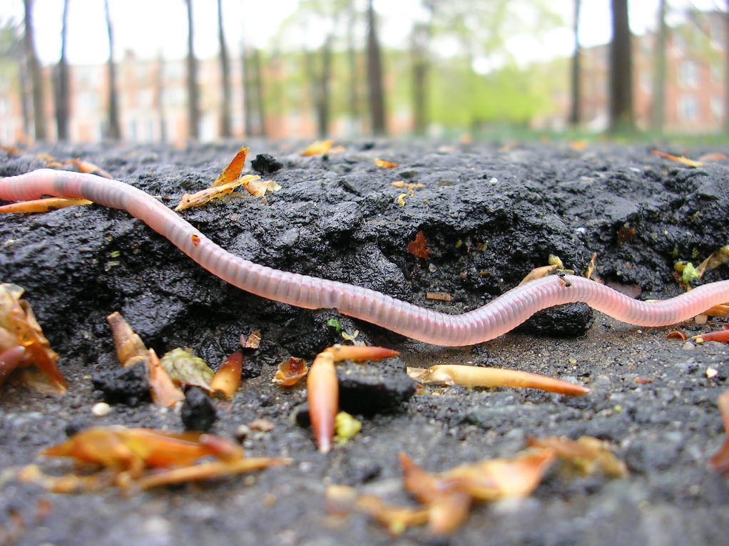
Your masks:
<svg viewBox="0 0 729 546"><path fill-rule="evenodd" d="M243 194L182 213L224 248L260 264L374 288L444 312L474 309L517 285L550 255L584 272L597 253L605 282L665 298L682 290L677 260L702 261L729 242L729 164L689 169L650 146L593 144L350 143L328 157L300 157L303 146L253 143L250 158L283 186L264 198ZM719 149L662 151L696 157ZM56 147L81 157L174 207L210 185L236 144L160 147ZM375 158L399 164L375 167ZM253 172L253 167L246 170ZM43 167L30 152L0 157L0 175ZM402 197L392 182L422 184ZM429 258L408 252L423 232ZM722 266L706 282L729 278ZM675 328L636 328L585 306L545 312L518 333L476 347L443 349L402 338L335 311L264 301L208 274L143 223L98 205L0 219L0 280L26 288L39 323L69 379L51 397L15 382L0 396L0 543L12 515L25 522L23 545L359 545L419 544L425 529L394 541L354 513L327 515L324 490L344 484L390 502L402 491L397 454L426 470L511 456L529 436L593 435L628 464L624 479L577 478L554 471L528 499L478 505L453 545L720 545L729 529L729 482L706 466L723 439L717 396L726 388L729 349L671 341ZM426 298L442 292L451 301ZM262 333L246 355L246 381L231 403L214 403L212 432L241 438L241 425L267 419L273 430L247 432L254 456L290 456L288 468L249 477L160 488L123 498L55 495L9 478L11 470L90 424L182 430L180 411L144 400L104 399L98 379L118 368L107 314L120 311L148 347L190 347L216 368L238 350L241 333ZM318 454L297 424L305 388L270 382L291 355L311 359L342 341L335 328L401 351L378 366L340 369L343 405L362 432ZM689 334L706 331L680 325ZM413 395L404 365L497 365L580 382L580 398L537 391L451 387ZM713 368L716 373L707 370ZM651 379L650 383L636 378ZM95 379L95 382L92 381ZM131 381L131 380L130 380ZM107 393L108 397L108 393ZM123 401L123 400L122 400ZM199 402L198 402L199 403ZM53 468L53 463L47 467ZM38 514L39 503L50 510ZM5 521L6 523L1 523Z"/></svg>

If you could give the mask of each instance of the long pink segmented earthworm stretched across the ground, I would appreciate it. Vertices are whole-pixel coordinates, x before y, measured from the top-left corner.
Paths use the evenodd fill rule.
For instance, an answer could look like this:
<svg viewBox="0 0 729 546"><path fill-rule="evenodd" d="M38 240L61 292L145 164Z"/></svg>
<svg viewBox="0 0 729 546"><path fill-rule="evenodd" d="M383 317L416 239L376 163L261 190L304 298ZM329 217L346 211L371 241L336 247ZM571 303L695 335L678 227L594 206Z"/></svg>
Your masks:
<svg viewBox="0 0 729 546"><path fill-rule="evenodd" d="M157 199L120 181L50 169L0 179L0 199L17 201L44 195L88 199L126 210L216 277L257 296L305 309L338 309L350 317L435 345L488 341L512 330L535 312L560 304L583 302L624 323L663 326L729 301L729 280L701 285L671 299L647 302L584 277L552 275L513 288L473 311L445 314L375 290L283 272L234 256Z"/></svg>

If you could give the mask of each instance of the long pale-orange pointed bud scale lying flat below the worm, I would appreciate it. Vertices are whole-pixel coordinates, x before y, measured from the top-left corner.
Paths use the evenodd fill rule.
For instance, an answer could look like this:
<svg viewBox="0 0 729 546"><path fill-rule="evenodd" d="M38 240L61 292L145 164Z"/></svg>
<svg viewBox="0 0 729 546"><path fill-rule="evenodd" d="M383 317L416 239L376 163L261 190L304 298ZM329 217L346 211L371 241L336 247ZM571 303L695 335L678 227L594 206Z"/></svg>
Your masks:
<svg viewBox="0 0 729 546"><path fill-rule="evenodd" d="M460 385L461 387L517 387L541 389L561 395L581 396L587 387L518 370L482 368L462 364L439 364L430 368L408 368L408 376L426 385Z"/></svg>

